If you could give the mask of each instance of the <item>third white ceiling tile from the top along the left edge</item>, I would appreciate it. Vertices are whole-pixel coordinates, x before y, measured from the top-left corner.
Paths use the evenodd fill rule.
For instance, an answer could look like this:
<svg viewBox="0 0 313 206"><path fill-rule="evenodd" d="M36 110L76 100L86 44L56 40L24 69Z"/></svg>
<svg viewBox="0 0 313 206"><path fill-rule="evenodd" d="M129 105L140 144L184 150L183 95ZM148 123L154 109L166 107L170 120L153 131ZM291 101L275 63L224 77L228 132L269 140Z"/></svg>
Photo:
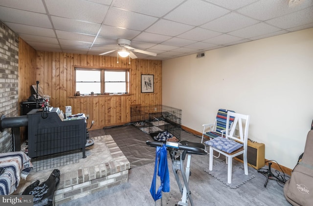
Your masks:
<svg viewBox="0 0 313 206"><path fill-rule="evenodd" d="M6 25L10 27L10 29L13 29L18 34L31 34L31 35L40 34L43 37L56 38L53 29L42 28L42 27L37 27L37 26L28 26L24 24L10 23L10 22L7 22Z"/></svg>

